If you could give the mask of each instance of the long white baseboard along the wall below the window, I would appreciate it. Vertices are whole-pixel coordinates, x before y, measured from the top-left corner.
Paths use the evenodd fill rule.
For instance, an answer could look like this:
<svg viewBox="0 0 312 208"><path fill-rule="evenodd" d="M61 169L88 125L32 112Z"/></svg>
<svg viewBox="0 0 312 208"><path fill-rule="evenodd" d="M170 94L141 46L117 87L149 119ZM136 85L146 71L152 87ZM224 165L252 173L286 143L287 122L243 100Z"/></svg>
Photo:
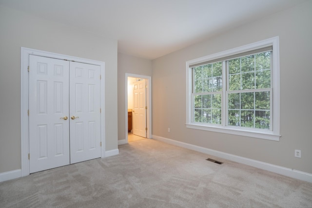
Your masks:
<svg viewBox="0 0 312 208"><path fill-rule="evenodd" d="M212 149L208 149L208 148L204 148L204 147L199 147L196 145L192 145L192 144L188 144L188 143L184 143L184 142L180 142L180 141L176 141L173 139L168 139L168 138L164 138L161 136L156 136L156 135L152 135L152 138L155 140L159 140L165 143L169 143L172 145L176 145L179 147L183 147L186 149L190 149L190 150L194 150L194 151L199 151L205 154L210 154L216 157L220 157L220 158L224 158L227 160L231 160L237 163L241 163L241 164L245 164L245 165L249 165L255 168L259 168L262 170L268 170L271 172L275 172L281 175L286 175L292 178L296 178L299 180L303 180L303 181L307 181L312 183L312 174L308 173L308 172L302 172L299 170L293 170L290 168L285 168L285 167L281 167L281 166L276 166L270 163L265 163L265 162L261 162L258 160L253 160L253 159L249 159L246 157L241 157L241 156L237 156L234 154L229 154L229 153L225 153L222 151L215 151Z"/></svg>

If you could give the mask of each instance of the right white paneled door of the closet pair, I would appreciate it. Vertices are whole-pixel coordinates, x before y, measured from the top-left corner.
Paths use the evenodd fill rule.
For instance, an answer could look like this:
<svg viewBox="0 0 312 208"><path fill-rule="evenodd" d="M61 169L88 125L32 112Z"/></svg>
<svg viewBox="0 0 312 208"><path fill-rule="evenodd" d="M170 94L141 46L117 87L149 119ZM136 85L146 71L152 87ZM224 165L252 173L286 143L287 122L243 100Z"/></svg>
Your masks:
<svg viewBox="0 0 312 208"><path fill-rule="evenodd" d="M70 162L98 158L100 67L70 62Z"/></svg>

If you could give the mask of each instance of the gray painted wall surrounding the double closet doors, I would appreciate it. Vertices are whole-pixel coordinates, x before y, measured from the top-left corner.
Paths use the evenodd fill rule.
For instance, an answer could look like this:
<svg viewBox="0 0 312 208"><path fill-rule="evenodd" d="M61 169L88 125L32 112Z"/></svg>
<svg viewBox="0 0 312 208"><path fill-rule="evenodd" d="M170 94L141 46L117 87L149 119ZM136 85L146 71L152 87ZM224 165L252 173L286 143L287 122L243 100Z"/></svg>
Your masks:
<svg viewBox="0 0 312 208"><path fill-rule="evenodd" d="M117 40L0 6L0 173L21 168L20 47L105 62L105 145L117 149Z"/></svg>

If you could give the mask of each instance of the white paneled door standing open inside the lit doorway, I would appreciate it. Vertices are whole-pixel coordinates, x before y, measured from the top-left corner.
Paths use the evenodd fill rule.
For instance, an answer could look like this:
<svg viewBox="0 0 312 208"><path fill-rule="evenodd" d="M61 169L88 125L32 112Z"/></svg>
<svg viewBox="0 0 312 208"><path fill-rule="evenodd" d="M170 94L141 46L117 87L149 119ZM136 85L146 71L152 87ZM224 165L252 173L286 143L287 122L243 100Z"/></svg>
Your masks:
<svg viewBox="0 0 312 208"><path fill-rule="evenodd" d="M133 94L133 134L146 137L145 79L134 83Z"/></svg>

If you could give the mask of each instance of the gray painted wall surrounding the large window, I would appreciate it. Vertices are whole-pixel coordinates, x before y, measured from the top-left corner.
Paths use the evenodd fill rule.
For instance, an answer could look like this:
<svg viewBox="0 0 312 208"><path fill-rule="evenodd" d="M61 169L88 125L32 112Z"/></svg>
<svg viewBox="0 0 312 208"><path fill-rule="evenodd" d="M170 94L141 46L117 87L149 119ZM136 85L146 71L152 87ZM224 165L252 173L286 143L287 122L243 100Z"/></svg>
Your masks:
<svg viewBox="0 0 312 208"><path fill-rule="evenodd" d="M306 1L153 60L153 135L312 173L311 19L312 1ZM280 38L280 141L187 129L185 62L275 36ZM294 157L295 149L302 158Z"/></svg>

